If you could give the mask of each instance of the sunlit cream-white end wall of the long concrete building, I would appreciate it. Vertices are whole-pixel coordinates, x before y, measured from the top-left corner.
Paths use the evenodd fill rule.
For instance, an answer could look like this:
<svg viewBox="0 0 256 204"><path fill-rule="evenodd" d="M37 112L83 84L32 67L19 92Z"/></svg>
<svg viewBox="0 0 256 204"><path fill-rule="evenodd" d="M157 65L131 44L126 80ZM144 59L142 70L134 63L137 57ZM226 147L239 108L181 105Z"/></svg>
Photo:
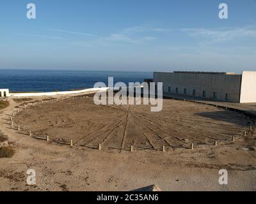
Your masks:
<svg viewBox="0 0 256 204"><path fill-rule="evenodd" d="M243 71L240 103L256 103L256 71Z"/></svg>

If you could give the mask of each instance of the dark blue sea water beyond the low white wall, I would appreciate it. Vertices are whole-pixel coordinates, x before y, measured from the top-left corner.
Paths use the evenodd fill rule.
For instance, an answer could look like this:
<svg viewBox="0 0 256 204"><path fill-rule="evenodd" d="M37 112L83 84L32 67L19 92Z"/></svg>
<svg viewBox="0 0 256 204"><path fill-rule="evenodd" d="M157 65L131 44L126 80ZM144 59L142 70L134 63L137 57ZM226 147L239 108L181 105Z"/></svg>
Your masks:
<svg viewBox="0 0 256 204"><path fill-rule="evenodd" d="M92 88L97 82L104 82L108 86L108 77L114 77L115 83L141 83L145 78L152 78L153 73L0 69L0 89L10 89L10 92L70 91Z"/></svg>

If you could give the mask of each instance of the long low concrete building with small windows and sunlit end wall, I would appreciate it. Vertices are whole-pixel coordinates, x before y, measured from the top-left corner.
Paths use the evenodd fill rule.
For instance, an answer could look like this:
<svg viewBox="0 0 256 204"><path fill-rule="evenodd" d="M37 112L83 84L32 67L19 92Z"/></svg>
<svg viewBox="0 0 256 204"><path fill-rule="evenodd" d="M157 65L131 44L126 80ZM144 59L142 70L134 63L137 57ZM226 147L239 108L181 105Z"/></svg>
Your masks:
<svg viewBox="0 0 256 204"><path fill-rule="evenodd" d="M154 72L154 82L163 82L163 96L183 94L236 103L256 103L256 71L242 75L225 72Z"/></svg>

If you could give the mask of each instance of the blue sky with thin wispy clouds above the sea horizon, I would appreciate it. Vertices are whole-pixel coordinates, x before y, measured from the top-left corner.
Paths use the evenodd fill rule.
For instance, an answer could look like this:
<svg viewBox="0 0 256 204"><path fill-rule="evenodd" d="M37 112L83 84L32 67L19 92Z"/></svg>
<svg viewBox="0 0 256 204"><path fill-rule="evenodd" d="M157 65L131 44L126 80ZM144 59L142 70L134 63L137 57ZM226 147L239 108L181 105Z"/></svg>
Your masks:
<svg viewBox="0 0 256 204"><path fill-rule="evenodd" d="M256 71L256 0L1 0L0 25L0 69Z"/></svg>

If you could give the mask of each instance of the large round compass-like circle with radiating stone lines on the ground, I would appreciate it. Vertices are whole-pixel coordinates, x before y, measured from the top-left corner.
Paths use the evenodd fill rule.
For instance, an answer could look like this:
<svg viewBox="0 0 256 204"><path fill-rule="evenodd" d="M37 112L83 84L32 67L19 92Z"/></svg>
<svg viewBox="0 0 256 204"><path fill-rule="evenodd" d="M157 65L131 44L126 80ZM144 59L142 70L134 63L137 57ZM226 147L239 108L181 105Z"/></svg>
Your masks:
<svg viewBox="0 0 256 204"><path fill-rule="evenodd" d="M166 150L214 145L242 136L250 119L214 106L163 100L161 112L150 105L95 105L93 97L48 101L28 106L14 118L21 131L75 146L106 149Z"/></svg>

